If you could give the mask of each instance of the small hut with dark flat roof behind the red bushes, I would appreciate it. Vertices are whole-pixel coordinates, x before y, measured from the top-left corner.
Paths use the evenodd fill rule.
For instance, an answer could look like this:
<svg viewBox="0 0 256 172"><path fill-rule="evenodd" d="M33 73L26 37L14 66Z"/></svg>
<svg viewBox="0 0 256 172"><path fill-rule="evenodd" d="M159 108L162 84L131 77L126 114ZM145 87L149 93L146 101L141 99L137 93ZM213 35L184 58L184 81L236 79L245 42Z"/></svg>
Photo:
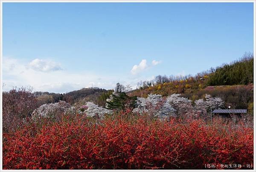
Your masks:
<svg viewBox="0 0 256 172"><path fill-rule="evenodd" d="M212 111L215 116L221 118L232 118L234 122L241 119L243 115L246 115L247 109L215 109Z"/></svg>

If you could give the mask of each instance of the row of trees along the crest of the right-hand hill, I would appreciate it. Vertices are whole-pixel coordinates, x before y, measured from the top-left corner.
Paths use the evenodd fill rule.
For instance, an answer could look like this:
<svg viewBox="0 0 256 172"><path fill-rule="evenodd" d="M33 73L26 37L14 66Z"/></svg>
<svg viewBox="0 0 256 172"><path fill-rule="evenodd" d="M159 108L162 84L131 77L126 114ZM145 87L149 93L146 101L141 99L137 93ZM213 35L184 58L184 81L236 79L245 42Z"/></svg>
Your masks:
<svg viewBox="0 0 256 172"><path fill-rule="evenodd" d="M137 89L145 89L163 83L200 82L205 86L247 85L253 83L253 54L245 53L239 60L192 75L157 75L153 80L139 81Z"/></svg>

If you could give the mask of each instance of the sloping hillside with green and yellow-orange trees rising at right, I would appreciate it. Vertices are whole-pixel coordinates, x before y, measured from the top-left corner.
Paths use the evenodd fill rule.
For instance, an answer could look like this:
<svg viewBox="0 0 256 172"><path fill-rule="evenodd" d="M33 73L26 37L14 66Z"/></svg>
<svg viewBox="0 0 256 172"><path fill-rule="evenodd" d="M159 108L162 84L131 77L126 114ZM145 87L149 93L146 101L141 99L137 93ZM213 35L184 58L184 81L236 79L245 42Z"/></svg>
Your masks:
<svg viewBox="0 0 256 172"><path fill-rule="evenodd" d="M149 83L149 84L148 84ZM138 83L139 89L129 96L147 97L148 94L168 96L181 94L193 102L210 94L221 97L233 109L253 109L253 55L211 68L195 76L167 77L158 75L152 81Z"/></svg>

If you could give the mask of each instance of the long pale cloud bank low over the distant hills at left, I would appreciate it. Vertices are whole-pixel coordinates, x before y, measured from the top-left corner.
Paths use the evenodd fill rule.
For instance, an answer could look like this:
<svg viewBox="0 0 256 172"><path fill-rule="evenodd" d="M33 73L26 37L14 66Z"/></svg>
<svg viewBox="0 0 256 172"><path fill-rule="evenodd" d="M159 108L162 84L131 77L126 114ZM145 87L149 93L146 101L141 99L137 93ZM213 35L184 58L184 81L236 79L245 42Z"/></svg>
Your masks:
<svg viewBox="0 0 256 172"><path fill-rule="evenodd" d="M19 59L3 57L3 91L9 91L17 86L32 86L33 91L47 91L65 93L73 90L91 87L113 89L116 85L116 76L96 75L88 71L79 73L69 70L52 71L52 68L32 69L29 64ZM51 70L50 70L51 69ZM99 80L101 78L101 80Z"/></svg>

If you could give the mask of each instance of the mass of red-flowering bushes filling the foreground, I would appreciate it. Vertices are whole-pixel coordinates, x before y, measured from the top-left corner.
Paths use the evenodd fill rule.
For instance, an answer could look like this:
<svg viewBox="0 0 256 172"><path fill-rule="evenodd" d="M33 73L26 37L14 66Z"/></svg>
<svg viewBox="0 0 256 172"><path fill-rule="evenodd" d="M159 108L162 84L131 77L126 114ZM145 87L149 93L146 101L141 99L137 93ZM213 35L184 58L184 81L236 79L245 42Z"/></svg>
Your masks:
<svg viewBox="0 0 256 172"><path fill-rule="evenodd" d="M123 115L3 135L3 169L204 169L208 163L218 169L253 163L253 129Z"/></svg>

